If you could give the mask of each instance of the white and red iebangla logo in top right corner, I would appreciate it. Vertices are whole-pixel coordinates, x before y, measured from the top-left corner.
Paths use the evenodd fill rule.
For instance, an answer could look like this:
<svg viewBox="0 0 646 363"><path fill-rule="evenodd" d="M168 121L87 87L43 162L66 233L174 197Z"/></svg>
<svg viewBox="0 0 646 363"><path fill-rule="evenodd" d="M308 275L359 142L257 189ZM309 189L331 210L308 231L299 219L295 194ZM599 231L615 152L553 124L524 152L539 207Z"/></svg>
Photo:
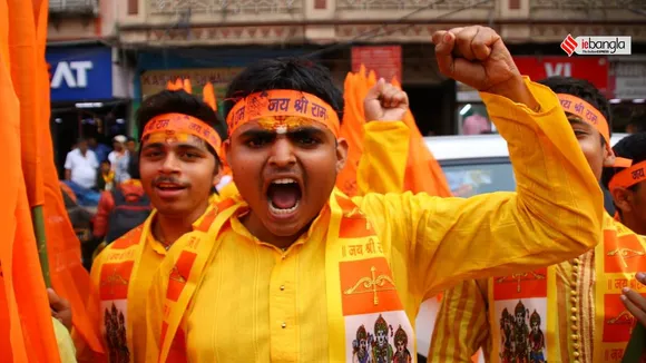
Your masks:
<svg viewBox="0 0 646 363"><path fill-rule="evenodd" d="M560 48L571 57L574 53L586 55L630 55L630 37L589 37L572 38L568 35L560 43Z"/></svg>

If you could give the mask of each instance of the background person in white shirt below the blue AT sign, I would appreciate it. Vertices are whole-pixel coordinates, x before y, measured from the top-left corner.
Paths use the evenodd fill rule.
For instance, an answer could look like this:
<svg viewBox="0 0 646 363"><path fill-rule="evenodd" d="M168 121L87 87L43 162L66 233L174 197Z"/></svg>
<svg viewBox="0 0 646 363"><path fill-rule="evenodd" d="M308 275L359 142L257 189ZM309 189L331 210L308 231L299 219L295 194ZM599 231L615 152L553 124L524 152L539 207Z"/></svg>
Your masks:
<svg viewBox="0 0 646 363"><path fill-rule="evenodd" d="M77 141L77 148L65 159L65 183L74 190L80 205L96 205L98 194L92 190L97 184L97 156L88 149L86 139Z"/></svg>

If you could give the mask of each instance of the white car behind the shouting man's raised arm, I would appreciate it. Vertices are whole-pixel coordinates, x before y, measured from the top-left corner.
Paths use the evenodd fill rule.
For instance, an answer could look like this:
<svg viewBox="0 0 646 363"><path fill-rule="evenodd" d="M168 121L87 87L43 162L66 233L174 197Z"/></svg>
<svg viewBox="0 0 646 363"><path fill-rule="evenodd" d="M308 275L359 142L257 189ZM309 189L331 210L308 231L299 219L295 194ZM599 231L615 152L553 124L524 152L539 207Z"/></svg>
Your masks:
<svg viewBox="0 0 646 363"><path fill-rule="evenodd" d="M626 135L613 135L610 144L617 144ZM442 166L456 196L516 189L509 150L500 135L438 136L425 137L424 141ZM607 205L610 206L611 203ZM437 300L425 301L417 317L418 359L421 363L429 353L438 308ZM483 362L482 357L480 362Z"/></svg>

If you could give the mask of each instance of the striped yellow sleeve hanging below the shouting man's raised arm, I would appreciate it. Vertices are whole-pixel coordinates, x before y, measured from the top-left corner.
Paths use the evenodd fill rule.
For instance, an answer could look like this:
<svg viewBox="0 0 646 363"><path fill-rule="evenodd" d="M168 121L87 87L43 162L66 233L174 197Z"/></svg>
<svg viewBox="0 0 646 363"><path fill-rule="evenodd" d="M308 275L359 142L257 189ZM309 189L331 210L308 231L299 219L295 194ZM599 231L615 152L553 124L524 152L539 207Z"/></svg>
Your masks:
<svg viewBox="0 0 646 363"><path fill-rule="evenodd" d="M487 286L487 281L481 283ZM461 282L442 296L428 360L471 362L488 336L487 297L481 285L474 279Z"/></svg>

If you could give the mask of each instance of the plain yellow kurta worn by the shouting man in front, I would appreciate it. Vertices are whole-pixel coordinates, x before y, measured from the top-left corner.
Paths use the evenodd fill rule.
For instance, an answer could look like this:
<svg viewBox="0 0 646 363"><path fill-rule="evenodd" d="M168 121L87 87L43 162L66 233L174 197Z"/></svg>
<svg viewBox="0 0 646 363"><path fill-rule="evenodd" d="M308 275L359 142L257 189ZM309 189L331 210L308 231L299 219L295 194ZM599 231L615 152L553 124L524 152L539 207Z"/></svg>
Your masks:
<svg viewBox="0 0 646 363"><path fill-rule="evenodd" d="M518 194L353 198L376 229L411 322L423 300L460 279L554 264L600 241L598 184L589 169L579 167L585 158L556 96L542 86L528 86L541 105L539 112L482 94L489 115L509 140ZM398 124L388 127L397 129ZM365 136L366 146L384 150L389 145L371 137ZM399 169L380 160L372 158L365 166ZM326 218L323 213L309 234L284 252L254 238L237 218L225 224L219 251L184 316L190 362L327 361L322 258ZM159 320L154 313L159 302L153 298L158 295L150 296L155 308L148 310L149 324ZM156 353L149 351L149 359Z"/></svg>

